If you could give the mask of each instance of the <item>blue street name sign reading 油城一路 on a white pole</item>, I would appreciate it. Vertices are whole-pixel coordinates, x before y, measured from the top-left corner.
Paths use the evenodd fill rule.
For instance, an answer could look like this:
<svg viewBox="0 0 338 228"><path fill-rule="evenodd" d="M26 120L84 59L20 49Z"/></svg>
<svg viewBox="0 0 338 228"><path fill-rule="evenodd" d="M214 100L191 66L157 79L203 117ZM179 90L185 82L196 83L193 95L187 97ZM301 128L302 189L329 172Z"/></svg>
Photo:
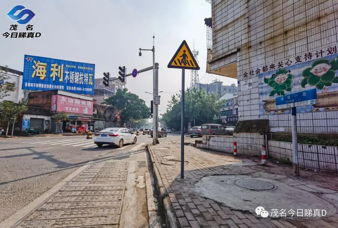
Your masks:
<svg viewBox="0 0 338 228"><path fill-rule="evenodd" d="M306 90L294 94L289 94L276 98L276 109L290 108L294 103L295 107L303 105L313 105L317 102L317 90Z"/></svg>

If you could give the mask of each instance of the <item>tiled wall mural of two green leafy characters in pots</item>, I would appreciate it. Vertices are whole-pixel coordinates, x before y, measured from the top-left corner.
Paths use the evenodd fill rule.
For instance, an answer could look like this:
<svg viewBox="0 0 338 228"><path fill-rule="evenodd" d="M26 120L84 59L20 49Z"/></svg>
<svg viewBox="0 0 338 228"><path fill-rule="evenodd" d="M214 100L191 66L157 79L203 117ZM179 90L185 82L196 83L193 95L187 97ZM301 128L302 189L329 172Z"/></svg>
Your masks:
<svg viewBox="0 0 338 228"><path fill-rule="evenodd" d="M291 108L276 109L275 98L312 88L317 103L297 107L297 112L338 110L337 72L338 54L333 54L259 74L260 115L289 113Z"/></svg>

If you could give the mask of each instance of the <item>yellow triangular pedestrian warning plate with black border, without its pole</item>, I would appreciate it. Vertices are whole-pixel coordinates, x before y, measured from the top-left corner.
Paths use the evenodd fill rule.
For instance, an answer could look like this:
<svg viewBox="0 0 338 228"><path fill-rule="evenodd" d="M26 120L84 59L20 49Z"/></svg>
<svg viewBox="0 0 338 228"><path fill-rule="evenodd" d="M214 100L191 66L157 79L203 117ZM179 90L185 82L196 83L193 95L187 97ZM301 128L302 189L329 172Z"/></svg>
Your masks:
<svg viewBox="0 0 338 228"><path fill-rule="evenodd" d="M171 58L168 68L178 68L187 70L199 70L199 66L191 53L190 48L186 41L178 47L174 56Z"/></svg>

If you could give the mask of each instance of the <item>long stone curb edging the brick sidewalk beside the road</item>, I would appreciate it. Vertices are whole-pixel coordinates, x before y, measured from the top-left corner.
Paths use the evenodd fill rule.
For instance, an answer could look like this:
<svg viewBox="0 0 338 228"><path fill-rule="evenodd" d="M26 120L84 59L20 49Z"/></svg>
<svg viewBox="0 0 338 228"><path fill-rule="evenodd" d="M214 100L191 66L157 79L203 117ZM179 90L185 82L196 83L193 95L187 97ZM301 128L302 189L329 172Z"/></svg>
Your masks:
<svg viewBox="0 0 338 228"><path fill-rule="evenodd" d="M165 217L166 217L167 227L169 227L169 228L180 228L176 214L174 212L174 208L172 207L172 205L170 203L169 195L167 193L167 190L164 187L164 184L163 184L162 179L161 179L160 172L159 172L159 170L156 166L155 159L154 159L154 156L153 156L153 151L151 149L151 145L147 144L147 148L148 148L148 153L149 153L150 159L151 159L151 166L152 166L152 170L153 170L156 188L157 188L157 191L159 192L159 197L162 201L161 205L162 205L162 209L164 211Z"/></svg>

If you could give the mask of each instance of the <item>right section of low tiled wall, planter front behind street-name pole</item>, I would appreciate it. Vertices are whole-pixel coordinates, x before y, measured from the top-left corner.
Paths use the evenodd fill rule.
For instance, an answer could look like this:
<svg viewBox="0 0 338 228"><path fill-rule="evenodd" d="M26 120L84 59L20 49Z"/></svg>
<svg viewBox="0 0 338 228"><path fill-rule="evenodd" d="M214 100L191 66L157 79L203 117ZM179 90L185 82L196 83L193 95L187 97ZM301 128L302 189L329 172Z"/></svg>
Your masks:
<svg viewBox="0 0 338 228"><path fill-rule="evenodd" d="M292 143L268 140L268 156L292 161ZM337 161L338 147L298 144L300 168L337 173Z"/></svg>

